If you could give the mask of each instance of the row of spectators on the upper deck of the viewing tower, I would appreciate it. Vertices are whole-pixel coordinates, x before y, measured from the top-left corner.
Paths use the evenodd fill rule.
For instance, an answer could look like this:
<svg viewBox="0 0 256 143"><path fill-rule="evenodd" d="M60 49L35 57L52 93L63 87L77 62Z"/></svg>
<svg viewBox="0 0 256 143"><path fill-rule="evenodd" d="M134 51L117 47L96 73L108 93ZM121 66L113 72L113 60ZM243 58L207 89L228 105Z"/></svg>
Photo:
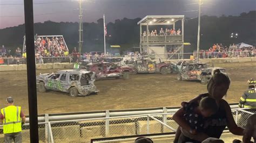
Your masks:
<svg viewBox="0 0 256 143"><path fill-rule="evenodd" d="M157 35L181 35L181 31L180 31L180 28L176 31L175 30L175 28L171 28L171 29L168 29L168 28L165 28L165 30L163 29L163 28L161 28L160 30L159 30L159 32L157 31L157 30L152 30L151 32L150 32L150 30L149 31L144 31L143 32L143 34L142 34L143 36L146 36L146 35L148 35L148 36L157 36Z"/></svg>

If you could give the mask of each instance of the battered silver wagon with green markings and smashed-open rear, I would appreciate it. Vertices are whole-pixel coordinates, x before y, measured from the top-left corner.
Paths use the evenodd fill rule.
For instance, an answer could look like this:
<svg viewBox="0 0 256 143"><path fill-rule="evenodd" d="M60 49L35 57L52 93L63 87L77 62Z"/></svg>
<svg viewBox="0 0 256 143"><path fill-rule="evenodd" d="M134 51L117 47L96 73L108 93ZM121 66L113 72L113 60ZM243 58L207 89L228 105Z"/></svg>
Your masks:
<svg viewBox="0 0 256 143"><path fill-rule="evenodd" d="M39 92L55 90L69 93L70 96L98 93L95 73L86 70L59 70L57 73L40 74L36 77Z"/></svg>

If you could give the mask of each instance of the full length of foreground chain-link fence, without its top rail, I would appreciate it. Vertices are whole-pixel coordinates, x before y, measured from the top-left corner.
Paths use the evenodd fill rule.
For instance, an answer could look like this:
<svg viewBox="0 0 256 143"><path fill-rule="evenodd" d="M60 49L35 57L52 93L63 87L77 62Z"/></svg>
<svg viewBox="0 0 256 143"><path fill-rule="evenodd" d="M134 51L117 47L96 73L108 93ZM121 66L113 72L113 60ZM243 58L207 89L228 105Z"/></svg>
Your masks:
<svg viewBox="0 0 256 143"><path fill-rule="evenodd" d="M232 109L239 126L245 126L247 119L256 110ZM90 142L95 138L122 137L128 135L175 132L178 124L172 120L172 113L132 115L105 118L49 121L38 124L40 142ZM23 142L30 141L29 124L22 126ZM0 142L4 141L3 130Z"/></svg>

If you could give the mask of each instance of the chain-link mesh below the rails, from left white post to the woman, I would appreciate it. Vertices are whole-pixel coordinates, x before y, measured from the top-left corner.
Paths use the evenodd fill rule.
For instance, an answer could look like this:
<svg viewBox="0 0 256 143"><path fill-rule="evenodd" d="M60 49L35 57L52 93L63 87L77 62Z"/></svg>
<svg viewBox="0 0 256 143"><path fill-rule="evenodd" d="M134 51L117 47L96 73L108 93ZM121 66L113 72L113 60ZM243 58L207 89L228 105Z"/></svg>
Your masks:
<svg viewBox="0 0 256 143"><path fill-rule="evenodd" d="M166 115L167 116L167 115ZM154 115L163 122L163 115ZM50 122L55 142L90 142L93 138L119 137L147 133L173 132L156 119L145 116L124 116ZM171 123L171 118L166 118Z"/></svg>

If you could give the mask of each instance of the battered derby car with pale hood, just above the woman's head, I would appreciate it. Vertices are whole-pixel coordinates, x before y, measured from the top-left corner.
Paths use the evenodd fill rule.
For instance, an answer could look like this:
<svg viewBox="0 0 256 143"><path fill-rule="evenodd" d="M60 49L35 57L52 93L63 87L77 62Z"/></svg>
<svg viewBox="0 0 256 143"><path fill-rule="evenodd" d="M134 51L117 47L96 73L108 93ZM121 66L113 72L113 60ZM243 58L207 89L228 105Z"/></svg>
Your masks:
<svg viewBox="0 0 256 143"><path fill-rule="evenodd" d="M188 63L177 75L179 81L193 81L198 80L201 84L207 84L212 77L212 72L215 69L220 69L221 72L226 73L224 68L214 67L209 68L206 63Z"/></svg>

